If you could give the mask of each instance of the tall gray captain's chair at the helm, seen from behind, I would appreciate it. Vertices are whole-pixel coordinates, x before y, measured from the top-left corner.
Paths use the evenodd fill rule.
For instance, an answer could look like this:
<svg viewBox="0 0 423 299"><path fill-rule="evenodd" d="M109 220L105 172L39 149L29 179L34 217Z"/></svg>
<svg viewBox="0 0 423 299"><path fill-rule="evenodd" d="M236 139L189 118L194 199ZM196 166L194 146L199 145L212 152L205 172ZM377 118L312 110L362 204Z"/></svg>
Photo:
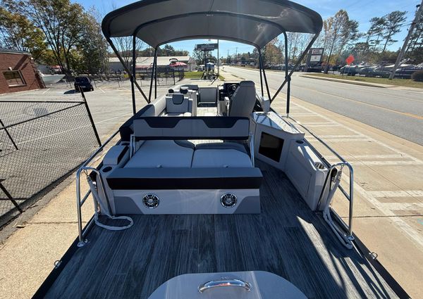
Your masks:
<svg viewBox="0 0 423 299"><path fill-rule="evenodd" d="M231 97L228 116L249 117L254 109L255 85L252 81L241 81Z"/></svg>

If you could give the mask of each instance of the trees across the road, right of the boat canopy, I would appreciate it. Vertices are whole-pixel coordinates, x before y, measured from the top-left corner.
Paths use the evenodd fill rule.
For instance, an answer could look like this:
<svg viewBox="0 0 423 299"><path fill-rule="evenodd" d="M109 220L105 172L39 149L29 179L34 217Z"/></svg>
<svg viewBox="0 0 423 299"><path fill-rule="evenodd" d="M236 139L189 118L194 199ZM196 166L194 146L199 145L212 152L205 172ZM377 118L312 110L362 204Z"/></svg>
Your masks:
<svg viewBox="0 0 423 299"><path fill-rule="evenodd" d="M341 9L335 15L324 20L323 28L315 48L324 48L323 62L325 65L345 65L345 58L350 54L355 56L357 63L395 63L398 51L388 50L388 47L398 42L396 34L407 30L406 11L393 11L369 20L370 26L366 32L359 31L357 20L350 19L348 12ZM297 63L300 55L310 42L311 34L288 32L288 61ZM262 49L264 65L284 63L284 43L276 38ZM257 50L252 53L238 53L236 60L256 58ZM407 45L405 58L412 63L423 63L423 15L417 23L410 42ZM226 58L228 60L228 58ZM229 61L231 58L229 58ZM302 61L304 63L305 60Z"/></svg>

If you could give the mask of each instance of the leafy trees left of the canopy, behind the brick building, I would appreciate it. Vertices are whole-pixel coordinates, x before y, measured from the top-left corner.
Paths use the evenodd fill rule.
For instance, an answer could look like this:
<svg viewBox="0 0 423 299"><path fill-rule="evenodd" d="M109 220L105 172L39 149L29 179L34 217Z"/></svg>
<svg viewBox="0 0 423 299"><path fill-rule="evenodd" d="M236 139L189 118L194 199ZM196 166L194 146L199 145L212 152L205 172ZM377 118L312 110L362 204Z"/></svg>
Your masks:
<svg viewBox="0 0 423 299"><path fill-rule="evenodd" d="M132 37L114 38L116 49L128 68L132 65ZM106 74L109 44L102 34L101 16L71 0L1 0L0 46L30 52L45 65L59 65L63 74ZM158 56L188 56L188 51L165 45ZM136 56L153 56L154 49L137 39Z"/></svg>

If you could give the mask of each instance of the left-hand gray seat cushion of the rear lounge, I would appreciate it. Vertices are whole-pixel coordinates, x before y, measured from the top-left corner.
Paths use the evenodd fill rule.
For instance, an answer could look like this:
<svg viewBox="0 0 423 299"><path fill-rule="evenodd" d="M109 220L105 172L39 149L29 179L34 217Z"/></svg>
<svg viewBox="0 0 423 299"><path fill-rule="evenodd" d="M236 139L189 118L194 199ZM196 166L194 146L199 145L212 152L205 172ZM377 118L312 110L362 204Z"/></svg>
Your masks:
<svg viewBox="0 0 423 299"><path fill-rule="evenodd" d="M137 150L125 168L191 167L193 145L176 144L173 140L147 140Z"/></svg>

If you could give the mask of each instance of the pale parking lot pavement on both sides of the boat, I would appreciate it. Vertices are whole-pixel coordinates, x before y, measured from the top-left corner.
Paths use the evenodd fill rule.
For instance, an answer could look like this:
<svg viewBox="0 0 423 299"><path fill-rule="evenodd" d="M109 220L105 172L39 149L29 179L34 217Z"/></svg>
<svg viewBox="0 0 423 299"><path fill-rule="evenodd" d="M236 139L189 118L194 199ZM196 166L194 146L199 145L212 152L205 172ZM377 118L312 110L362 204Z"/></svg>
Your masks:
<svg viewBox="0 0 423 299"><path fill-rule="evenodd" d="M228 73L223 75L230 77ZM241 78L231 79L238 81ZM130 84L97 82L96 85L94 91L85 93L85 96L100 138L104 141L132 114ZM147 87L146 85L147 82L143 87ZM168 86L159 87L158 94L166 89ZM274 91L271 89L272 93ZM69 99L80 96L73 94L66 85L13 94L27 99L34 98L34 95L51 101L57 96L65 95ZM285 94L281 94L273 105L281 114L285 110L284 96ZM0 96L0 100L1 98L4 96ZM137 109L142 108L145 103L137 93ZM423 147L302 98L292 98L290 115L312 129L353 164L355 233L370 250L379 255L379 260L413 298L421 297L423 293L419 288L419 278L423 276L423 268L420 267L423 263ZM309 134L307 139L325 158L332 163L336 162L333 153L319 145L316 139ZM348 173L345 173L343 179L345 184ZM15 250L21 250L25 256L32 257L12 260L10 269L0 276L0 280L4 281L4 288L0 289L0 293L7 291L4 293L7 298L16 297L17 293L13 290L18 289L19 285L8 276L17 275L21 281L27 281L25 294L29 297L49 273L54 260L61 257L75 238L75 182L68 184L63 193L54 198L37 217L25 221L25 229L9 238L4 250L0 247L0 259L7 259ZM87 213L92 213L92 207L87 206ZM345 220L348 219L347 207L345 198L338 194L334 208ZM22 224L19 221L16 223ZM46 238L47 242L39 241ZM25 246L23 240L32 240L33 245ZM21 267L39 269L39 274L30 276Z"/></svg>

